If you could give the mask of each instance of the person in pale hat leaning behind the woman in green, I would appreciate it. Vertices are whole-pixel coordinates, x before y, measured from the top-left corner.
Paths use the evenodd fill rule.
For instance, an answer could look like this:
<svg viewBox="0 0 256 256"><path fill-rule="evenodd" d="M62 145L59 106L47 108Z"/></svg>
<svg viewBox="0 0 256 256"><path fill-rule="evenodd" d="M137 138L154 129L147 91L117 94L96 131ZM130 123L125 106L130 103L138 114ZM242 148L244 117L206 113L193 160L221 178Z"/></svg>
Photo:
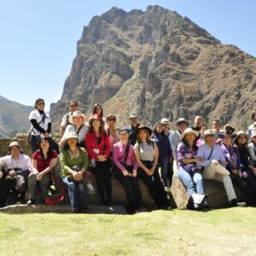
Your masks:
<svg viewBox="0 0 256 256"><path fill-rule="evenodd" d="M67 125L66 130L64 132L64 135L61 137L61 141L59 143L59 147L61 149L65 148L66 145L66 137L67 133L69 132L75 132L78 135L78 146L85 148L84 140L86 133L88 132L89 125L85 123L86 117L84 113L81 111L75 111L73 112L73 119L72 124Z"/></svg>

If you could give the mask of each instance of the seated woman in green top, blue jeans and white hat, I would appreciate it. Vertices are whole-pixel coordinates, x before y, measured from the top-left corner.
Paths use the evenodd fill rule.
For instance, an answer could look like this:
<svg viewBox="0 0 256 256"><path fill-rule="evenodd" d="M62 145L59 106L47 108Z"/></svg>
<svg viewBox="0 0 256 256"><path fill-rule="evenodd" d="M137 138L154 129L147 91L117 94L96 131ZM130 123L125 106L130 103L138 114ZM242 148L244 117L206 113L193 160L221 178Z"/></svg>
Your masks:
<svg viewBox="0 0 256 256"><path fill-rule="evenodd" d="M79 148L78 135L70 131L66 135L68 148L61 151L61 177L67 184L68 195L74 213L87 210L83 175L89 166L86 150Z"/></svg>

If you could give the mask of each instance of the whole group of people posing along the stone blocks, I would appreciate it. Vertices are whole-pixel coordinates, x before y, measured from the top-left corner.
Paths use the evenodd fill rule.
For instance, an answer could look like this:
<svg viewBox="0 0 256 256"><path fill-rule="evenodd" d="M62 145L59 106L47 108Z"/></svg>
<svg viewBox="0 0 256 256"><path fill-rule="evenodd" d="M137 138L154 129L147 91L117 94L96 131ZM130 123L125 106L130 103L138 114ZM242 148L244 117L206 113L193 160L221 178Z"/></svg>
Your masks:
<svg viewBox="0 0 256 256"><path fill-rule="evenodd" d="M111 178L115 177L125 189L127 212L145 211L139 179L156 206L170 210L166 191L172 186L175 165L189 197L206 194L205 178L224 183L231 206L241 205L233 184L256 203L256 123L249 126L248 133L235 133L232 125L221 130L218 119L212 120L208 129L201 116L196 116L195 125L189 127L189 121L180 118L175 124L177 130L172 131L169 120L163 118L152 131L139 124L137 113L131 113L131 125L117 129L116 116L105 118L101 104L95 104L86 119L79 111L79 102L73 100L61 120L61 140L56 143L44 105L44 99L36 100L29 116L32 158L23 154L17 142L10 143L9 154L0 158L0 207L17 202L35 204L38 184L45 202L55 176L67 187L73 212L86 212L88 189L94 192L90 182L93 173L100 205L112 207ZM256 113L252 119L256 122ZM61 173L56 168L58 159ZM25 201L27 189L29 200ZM208 207L207 197L203 204Z"/></svg>

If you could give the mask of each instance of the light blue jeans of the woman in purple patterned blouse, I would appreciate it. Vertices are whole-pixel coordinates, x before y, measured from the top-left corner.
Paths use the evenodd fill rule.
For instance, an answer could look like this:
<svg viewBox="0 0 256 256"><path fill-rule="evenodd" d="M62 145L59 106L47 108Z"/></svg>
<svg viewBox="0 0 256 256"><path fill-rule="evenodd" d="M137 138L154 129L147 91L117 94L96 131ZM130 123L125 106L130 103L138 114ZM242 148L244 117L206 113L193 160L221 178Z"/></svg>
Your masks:
<svg viewBox="0 0 256 256"><path fill-rule="evenodd" d="M177 169L177 177L182 181L184 186L186 187L189 197L195 193L204 195L204 183L203 177L199 172L189 173L183 170L183 168L179 167Z"/></svg>

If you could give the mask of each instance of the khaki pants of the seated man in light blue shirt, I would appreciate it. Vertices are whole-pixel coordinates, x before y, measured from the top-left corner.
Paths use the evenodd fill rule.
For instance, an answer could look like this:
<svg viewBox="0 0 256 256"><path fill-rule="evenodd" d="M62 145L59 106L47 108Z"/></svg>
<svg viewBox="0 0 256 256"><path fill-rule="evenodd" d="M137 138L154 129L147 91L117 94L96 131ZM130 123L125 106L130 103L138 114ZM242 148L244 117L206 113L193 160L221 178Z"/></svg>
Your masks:
<svg viewBox="0 0 256 256"><path fill-rule="evenodd" d="M205 167L204 178L214 179L218 182L224 183L224 189L226 190L229 201L231 201L232 199L236 199L236 193L233 188L233 184L231 182L230 176L223 175L223 174L218 174L218 177L215 176L215 173L218 172L218 168L224 168L224 167L221 165L212 166L212 164Z"/></svg>

